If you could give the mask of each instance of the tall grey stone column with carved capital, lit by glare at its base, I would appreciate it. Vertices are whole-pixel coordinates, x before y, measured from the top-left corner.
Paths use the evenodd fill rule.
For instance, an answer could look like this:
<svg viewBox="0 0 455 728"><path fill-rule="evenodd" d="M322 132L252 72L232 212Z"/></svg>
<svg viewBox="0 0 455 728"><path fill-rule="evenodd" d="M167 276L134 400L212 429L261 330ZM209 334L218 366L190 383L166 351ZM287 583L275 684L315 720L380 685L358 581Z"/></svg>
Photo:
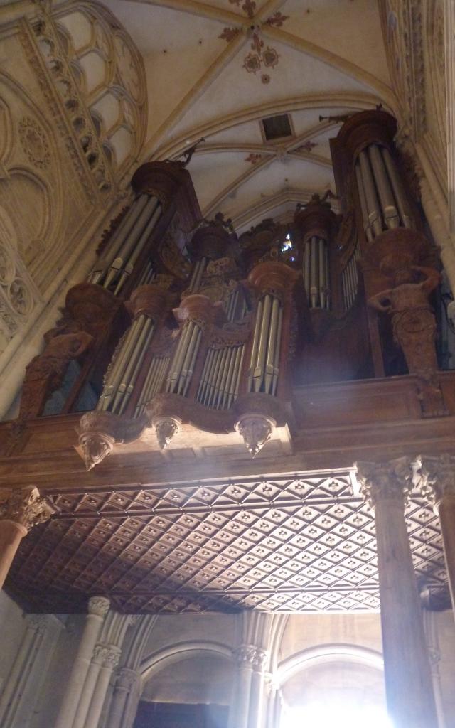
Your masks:
<svg viewBox="0 0 455 728"><path fill-rule="evenodd" d="M411 483L407 458L357 463L357 478L374 509L387 708L394 728L438 725L404 507Z"/></svg>

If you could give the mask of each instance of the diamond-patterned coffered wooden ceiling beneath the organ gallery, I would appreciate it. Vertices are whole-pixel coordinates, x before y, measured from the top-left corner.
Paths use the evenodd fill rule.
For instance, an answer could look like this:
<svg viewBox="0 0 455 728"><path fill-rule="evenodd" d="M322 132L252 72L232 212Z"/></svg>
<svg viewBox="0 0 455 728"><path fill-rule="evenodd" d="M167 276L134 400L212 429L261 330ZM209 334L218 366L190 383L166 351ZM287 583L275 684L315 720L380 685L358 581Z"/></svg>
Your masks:
<svg viewBox="0 0 455 728"><path fill-rule="evenodd" d="M10 574L34 611L84 611L103 593L119 612L374 612L374 516L355 471L47 491L56 509ZM437 516L406 509L416 576L446 585Z"/></svg>

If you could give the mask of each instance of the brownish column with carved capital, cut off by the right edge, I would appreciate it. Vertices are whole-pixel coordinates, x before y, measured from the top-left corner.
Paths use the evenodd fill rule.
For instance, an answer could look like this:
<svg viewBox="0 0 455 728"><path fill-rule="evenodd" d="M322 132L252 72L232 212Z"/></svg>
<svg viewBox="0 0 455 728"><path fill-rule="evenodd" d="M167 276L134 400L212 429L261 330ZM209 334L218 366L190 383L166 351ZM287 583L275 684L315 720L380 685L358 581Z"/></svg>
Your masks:
<svg viewBox="0 0 455 728"><path fill-rule="evenodd" d="M422 457L422 495L439 516L444 555L455 614L455 455Z"/></svg>

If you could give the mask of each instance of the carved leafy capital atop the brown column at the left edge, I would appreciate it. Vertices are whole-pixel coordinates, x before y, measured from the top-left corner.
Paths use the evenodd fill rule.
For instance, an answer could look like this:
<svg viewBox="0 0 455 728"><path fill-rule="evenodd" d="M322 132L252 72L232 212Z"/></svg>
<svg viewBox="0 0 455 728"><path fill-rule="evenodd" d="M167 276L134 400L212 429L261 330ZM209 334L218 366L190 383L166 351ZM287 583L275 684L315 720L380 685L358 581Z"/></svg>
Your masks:
<svg viewBox="0 0 455 728"><path fill-rule="evenodd" d="M30 531L48 521L55 508L39 494L35 486L0 488L0 521L13 521Z"/></svg>

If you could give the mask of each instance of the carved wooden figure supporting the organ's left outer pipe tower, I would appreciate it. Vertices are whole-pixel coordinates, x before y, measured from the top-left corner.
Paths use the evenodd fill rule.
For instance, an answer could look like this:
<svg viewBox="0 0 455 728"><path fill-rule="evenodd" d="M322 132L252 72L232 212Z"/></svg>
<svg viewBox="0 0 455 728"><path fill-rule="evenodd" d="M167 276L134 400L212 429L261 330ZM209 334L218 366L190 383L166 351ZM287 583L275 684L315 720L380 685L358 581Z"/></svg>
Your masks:
<svg viewBox="0 0 455 728"><path fill-rule="evenodd" d="M72 359L80 357L93 337L76 321L67 321L44 334L44 352L33 357L25 369L20 400L20 419L38 417L49 395L60 387Z"/></svg>

